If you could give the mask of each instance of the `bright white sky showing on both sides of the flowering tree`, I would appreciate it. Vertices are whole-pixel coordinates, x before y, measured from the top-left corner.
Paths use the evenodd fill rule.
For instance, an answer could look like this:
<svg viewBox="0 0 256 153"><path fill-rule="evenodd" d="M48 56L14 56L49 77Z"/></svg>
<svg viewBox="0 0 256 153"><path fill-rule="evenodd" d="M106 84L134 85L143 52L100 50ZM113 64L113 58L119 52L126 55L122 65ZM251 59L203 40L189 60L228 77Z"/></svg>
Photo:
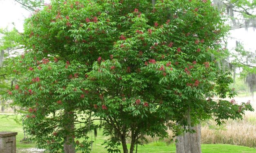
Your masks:
<svg viewBox="0 0 256 153"><path fill-rule="evenodd" d="M49 2L49 0L45 0ZM20 32L23 32L23 23L26 17L29 17L31 13L21 7L20 4L14 2L14 0L0 0L0 28L9 29L13 28L13 24L16 29ZM240 41L246 50L251 52L256 51L256 33L253 28L248 28L248 31L245 31L244 28L236 29L230 31L230 37L233 39L228 40L228 49L232 49L236 46L236 40Z"/></svg>

